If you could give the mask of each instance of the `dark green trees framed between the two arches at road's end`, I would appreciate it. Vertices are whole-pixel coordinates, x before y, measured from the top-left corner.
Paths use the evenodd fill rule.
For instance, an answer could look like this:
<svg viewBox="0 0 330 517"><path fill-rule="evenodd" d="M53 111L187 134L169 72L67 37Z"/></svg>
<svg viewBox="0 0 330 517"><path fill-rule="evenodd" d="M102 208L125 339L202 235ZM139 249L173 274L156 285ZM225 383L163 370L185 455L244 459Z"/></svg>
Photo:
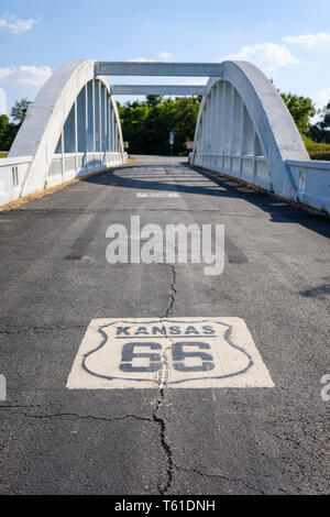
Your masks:
<svg viewBox="0 0 330 517"><path fill-rule="evenodd" d="M173 153L187 155L186 142L194 140L200 101L200 97L147 96L142 102L118 105L130 153L169 155L169 132L174 131Z"/></svg>

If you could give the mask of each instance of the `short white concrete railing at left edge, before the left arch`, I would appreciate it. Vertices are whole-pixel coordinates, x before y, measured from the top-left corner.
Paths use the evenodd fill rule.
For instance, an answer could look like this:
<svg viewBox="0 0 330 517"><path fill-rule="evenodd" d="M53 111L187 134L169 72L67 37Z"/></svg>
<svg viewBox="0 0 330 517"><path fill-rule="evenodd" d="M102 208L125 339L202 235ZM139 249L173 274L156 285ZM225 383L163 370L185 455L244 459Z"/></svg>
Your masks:
<svg viewBox="0 0 330 517"><path fill-rule="evenodd" d="M19 199L32 160L32 156L0 160L0 207Z"/></svg>

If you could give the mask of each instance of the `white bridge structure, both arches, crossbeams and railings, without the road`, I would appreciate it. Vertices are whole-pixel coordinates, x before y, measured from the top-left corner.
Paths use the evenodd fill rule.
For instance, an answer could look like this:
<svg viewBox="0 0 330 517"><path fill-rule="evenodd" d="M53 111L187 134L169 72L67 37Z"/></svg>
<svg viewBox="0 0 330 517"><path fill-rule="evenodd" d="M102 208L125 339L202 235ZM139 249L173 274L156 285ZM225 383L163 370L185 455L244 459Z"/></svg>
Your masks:
<svg viewBox="0 0 330 517"><path fill-rule="evenodd" d="M116 76L207 77L198 85L110 85ZM122 164L114 96L201 95L190 163L329 213L327 162L311 162L280 97L245 62L105 63L72 61L47 81L9 158L1 161L0 206Z"/></svg>

